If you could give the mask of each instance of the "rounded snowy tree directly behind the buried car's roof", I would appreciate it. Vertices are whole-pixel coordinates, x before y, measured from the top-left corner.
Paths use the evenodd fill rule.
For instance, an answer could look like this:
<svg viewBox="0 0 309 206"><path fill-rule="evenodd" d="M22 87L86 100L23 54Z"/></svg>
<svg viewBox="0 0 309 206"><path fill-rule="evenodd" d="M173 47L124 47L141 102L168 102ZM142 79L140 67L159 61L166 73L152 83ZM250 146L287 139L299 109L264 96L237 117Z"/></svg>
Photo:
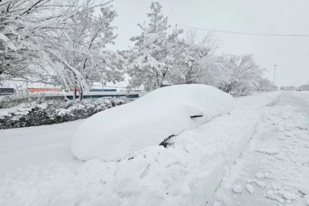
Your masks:
<svg viewBox="0 0 309 206"><path fill-rule="evenodd" d="M198 41L197 30L186 32L186 38L179 41L176 64L172 69L172 80L175 84L211 84L220 76L221 56L215 55L220 41L213 32L207 33Z"/></svg>

